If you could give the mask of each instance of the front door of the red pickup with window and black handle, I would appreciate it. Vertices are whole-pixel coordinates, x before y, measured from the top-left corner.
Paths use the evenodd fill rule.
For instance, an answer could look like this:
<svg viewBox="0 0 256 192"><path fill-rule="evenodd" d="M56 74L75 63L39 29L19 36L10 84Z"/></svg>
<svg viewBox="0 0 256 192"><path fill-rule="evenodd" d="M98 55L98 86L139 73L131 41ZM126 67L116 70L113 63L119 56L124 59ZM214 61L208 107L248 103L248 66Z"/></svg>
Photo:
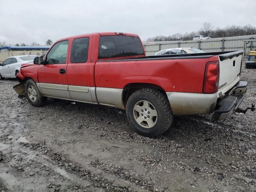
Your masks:
<svg viewBox="0 0 256 192"><path fill-rule="evenodd" d="M43 95L71 99L68 93L67 60L69 40L55 43L38 66L38 81Z"/></svg>

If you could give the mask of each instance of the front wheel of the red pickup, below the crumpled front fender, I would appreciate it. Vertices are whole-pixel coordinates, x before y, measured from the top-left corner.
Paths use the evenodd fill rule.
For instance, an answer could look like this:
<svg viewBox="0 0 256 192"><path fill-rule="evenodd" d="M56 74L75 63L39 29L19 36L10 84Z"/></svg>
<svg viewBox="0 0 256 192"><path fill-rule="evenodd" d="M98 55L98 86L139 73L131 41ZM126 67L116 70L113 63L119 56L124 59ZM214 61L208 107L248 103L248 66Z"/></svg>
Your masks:
<svg viewBox="0 0 256 192"><path fill-rule="evenodd" d="M32 88L34 89L34 95L36 96L36 99L34 98L30 98L30 92L28 90L28 88ZM26 92L26 97L28 99L28 102L30 102L30 104L32 106L35 106L35 107L39 107L39 106L42 106L43 104L45 104L47 98L42 96L42 94L39 92L37 86L36 86L36 83L34 82L34 80L32 79L29 79L26 81L26 84L25 84L25 92Z"/></svg>

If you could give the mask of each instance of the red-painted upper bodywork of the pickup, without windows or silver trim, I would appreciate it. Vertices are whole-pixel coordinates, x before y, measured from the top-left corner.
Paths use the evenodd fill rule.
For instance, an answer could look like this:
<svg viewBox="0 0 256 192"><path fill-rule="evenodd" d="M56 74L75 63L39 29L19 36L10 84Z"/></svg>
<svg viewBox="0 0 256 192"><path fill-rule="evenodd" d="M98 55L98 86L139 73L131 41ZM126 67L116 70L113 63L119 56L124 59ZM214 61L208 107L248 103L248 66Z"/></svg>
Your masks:
<svg viewBox="0 0 256 192"><path fill-rule="evenodd" d="M36 82L39 80L39 82L52 84L120 89L130 83L150 83L162 87L166 92L202 93L206 63L218 61L218 56L212 56L196 59L97 62L100 35L116 34L114 32L83 34L58 40L58 42L69 40L65 64L25 65L21 68L19 77L23 75L33 78ZM125 35L137 36L135 34ZM90 39L87 62L71 63L72 41L83 37ZM113 59L116 58L111 58ZM61 68L66 69L66 74L59 73Z"/></svg>

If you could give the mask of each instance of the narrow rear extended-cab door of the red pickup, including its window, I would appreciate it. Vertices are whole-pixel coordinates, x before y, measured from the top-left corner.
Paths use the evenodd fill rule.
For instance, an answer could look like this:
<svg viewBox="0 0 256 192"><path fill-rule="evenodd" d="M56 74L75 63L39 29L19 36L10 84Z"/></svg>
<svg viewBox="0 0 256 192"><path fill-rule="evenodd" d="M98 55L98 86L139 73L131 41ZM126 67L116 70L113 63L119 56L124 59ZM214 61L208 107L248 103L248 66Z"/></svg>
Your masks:
<svg viewBox="0 0 256 192"><path fill-rule="evenodd" d="M90 87L89 67L91 51L91 35L73 38L70 58L67 66L68 91L72 100L94 102L91 92L95 87Z"/></svg>

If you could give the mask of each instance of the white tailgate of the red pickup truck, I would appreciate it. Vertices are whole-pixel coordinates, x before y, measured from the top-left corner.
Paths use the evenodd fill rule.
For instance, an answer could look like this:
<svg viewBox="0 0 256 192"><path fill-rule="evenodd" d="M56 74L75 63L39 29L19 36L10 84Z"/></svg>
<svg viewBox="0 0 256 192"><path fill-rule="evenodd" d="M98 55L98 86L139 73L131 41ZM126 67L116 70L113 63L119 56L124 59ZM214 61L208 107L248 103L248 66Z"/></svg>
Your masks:
<svg viewBox="0 0 256 192"><path fill-rule="evenodd" d="M220 80L218 97L226 93L239 80L243 51L236 51L218 56L220 62Z"/></svg>

